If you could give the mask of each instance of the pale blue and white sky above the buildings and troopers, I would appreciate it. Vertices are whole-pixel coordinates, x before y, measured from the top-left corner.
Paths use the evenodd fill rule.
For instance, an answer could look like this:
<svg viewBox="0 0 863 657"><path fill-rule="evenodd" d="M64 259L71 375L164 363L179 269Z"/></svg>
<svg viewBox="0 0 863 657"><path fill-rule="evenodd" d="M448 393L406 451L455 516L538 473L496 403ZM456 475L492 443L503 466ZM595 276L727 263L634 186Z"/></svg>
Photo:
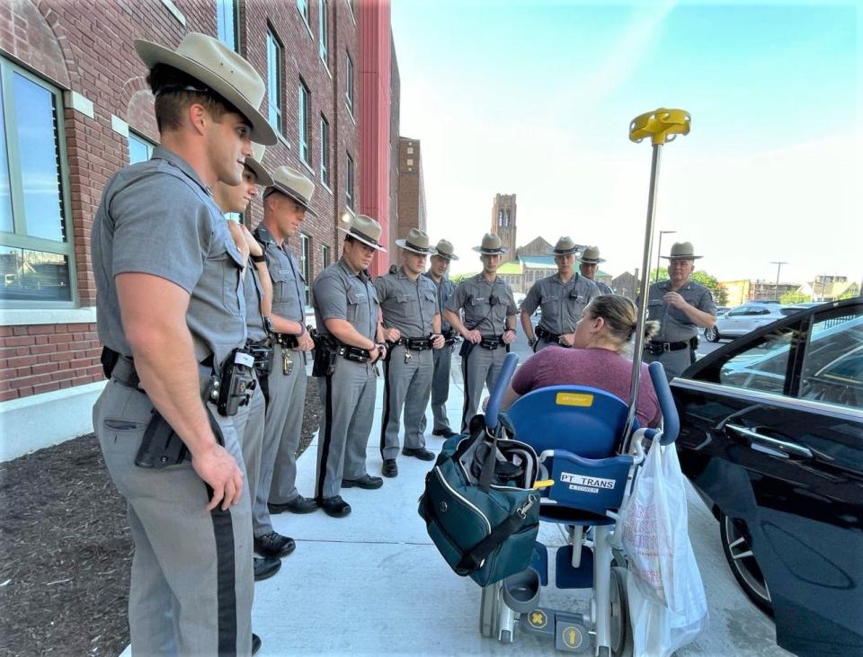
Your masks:
<svg viewBox="0 0 863 657"><path fill-rule="evenodd" d="M661 148L654 230L719 280L863 280L863 0L392 0L400 132L422 145L453 272L514 193L518 244L571 235L640 268L651 146L629 121L689 111ZM655 235L655 233L654 233ZM656 262L656 240L651 262Z"/></svg>

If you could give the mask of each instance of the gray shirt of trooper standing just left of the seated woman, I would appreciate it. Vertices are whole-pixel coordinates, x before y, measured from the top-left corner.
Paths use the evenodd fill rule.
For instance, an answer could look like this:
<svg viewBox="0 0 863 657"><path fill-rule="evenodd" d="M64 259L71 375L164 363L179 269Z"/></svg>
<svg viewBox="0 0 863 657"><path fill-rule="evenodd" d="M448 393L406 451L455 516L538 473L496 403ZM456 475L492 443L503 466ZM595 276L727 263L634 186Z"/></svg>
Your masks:
<svg viewBox="0 0 863 657"><path fill-rule="evenodd" d="M497 299L494 306L492 296ZM482 273L458 283L446 307L454 313L464 309L465 328L476 329L485 337L501 335L506 330L506 318L519 312L510 286L499 276L489 283Z"/></svg>

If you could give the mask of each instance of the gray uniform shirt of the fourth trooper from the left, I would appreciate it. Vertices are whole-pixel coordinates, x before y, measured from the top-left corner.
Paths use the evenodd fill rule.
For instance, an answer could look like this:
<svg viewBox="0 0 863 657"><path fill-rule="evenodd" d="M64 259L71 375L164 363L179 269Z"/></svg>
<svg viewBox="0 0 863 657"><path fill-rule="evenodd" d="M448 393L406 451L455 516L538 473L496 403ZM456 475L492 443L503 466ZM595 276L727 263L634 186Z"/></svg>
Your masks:
<svg viewBox="0 0 863 657"><path fill-rule="evenodd" d="M364 271L355 274L344 260L321 271L312 287L318 333L332 335L326 320L343 319L372 342L378 342L378 293Z"/></svg>

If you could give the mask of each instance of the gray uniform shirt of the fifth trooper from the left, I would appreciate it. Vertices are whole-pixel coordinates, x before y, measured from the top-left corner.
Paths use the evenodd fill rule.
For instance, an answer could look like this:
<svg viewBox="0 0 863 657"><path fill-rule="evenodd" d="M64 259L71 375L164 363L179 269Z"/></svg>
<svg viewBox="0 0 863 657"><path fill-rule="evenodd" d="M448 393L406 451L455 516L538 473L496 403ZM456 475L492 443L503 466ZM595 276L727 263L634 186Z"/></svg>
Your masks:
<svg viewBox="0 0 863 657"><path fill-rule="evenodd" d="M422 274L410 280L403 268L375 279L384 326L402 337L424 338L432 333L432 320L440 313L432 280Z"/></svg>

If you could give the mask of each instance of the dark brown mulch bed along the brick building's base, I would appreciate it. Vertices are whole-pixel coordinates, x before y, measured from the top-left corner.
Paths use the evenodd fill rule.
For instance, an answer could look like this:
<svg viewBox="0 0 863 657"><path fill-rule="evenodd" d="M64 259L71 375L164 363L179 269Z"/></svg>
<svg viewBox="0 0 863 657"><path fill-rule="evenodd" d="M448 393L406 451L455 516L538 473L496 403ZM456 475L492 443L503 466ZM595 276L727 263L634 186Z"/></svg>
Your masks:
<svg viewBox="0 0 863 657"><path fill-rule="evenodd" d="M321 417L309 379L303 437ZM0 655L117 655L129 644L126 502L93 434L0 463Z"/></svg>

